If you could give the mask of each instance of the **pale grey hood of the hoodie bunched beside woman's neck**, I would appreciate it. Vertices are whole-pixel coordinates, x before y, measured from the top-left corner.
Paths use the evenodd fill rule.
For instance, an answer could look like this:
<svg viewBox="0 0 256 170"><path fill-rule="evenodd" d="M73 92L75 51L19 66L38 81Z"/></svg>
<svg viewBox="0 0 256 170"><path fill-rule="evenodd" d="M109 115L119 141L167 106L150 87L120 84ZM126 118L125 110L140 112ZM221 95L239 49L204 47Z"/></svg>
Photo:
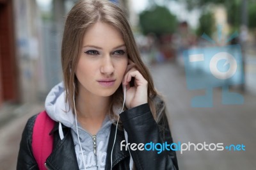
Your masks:
<svg viewBox="0 0 256 170"><path fill-rule="evenodd" d="M74 126L75 116L69 104L65 102L65 90L63 82L51 89L45 99L45 111L49 117L62 123L66 127Z"/></svg>

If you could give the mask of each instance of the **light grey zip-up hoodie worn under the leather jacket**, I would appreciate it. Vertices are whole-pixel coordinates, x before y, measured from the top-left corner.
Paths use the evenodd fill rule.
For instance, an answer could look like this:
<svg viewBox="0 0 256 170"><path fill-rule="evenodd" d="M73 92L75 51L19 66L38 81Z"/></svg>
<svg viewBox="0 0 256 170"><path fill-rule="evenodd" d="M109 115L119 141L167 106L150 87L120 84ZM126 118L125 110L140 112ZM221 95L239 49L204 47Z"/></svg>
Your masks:
<svg viewBox="0 0 256 170"><path fill-rule="evenodd" d="M109 116L106 116L104 122L102 123L102 127L96 134L94 140L93 136L86 132L86 130L84 130L79 123L76 128L76 118L72 113L72 109L69 109L69 105L65 102L63 82L60 82L54 86L54 88L52 88L50 93L47 95L45 100L45 110L52 120L60 122L59 133L61 139L63 139L61 123L72 129L71 133L74 140L74 147L76 150L79 169L105 169L109 134L112 124ZM85 168L83 165L83 155L79 146L78 136L84 155ZM93 146L95 147L93 142L96 143L96 148L93 148Z"/></svg>

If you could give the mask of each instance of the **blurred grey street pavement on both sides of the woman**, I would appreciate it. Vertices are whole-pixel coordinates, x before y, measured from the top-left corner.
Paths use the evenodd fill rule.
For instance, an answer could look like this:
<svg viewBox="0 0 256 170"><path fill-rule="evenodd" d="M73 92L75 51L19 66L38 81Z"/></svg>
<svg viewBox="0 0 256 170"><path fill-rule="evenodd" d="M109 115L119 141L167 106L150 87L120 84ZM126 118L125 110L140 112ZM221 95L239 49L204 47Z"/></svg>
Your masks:
<svg viewBox="0 0 256 170"><path fill-rule="evenodd" d="M256 94L246 91L243 105L221 104L221 90L214 89L214 107L192 108L190 100L204 91L188 91L184 68L174 63L150 66L156 88L166 98L168 119L177 143L244 144L246 151L177 151L180 169L254 169L256 148ZM255 76L255 72L253 74ZM6 107L7 108L7 107ZM0 129L0 164L3 170L15 169L19 141L26 120L42 111L44 104L5 109L15 114ZM4 109L0 115L4 115ZM3 113L2 113L3 112ZM6 114L6 113L5 113Z"/></svg>

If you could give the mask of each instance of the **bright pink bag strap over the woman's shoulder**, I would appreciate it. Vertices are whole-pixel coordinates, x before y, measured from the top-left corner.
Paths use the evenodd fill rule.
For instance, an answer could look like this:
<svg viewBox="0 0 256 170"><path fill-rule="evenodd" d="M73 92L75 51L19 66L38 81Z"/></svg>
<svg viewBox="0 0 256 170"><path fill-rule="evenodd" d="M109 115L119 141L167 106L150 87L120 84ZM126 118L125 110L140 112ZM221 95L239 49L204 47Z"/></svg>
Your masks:
<svg viewBox="0 0 256 170"><path fill-rule="evenodd" d="M32 150L40 170L46 170L45 161L52 153L53 136L50 135L54 121L45 111L38 114L32 135Z"/></svg>

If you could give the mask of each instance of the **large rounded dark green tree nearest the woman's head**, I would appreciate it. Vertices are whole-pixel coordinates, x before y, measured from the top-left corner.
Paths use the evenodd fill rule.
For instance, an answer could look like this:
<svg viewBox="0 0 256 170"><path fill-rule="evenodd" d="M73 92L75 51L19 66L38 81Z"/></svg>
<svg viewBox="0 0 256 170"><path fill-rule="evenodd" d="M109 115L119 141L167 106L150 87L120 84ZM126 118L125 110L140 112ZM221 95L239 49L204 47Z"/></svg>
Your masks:
<svg viewBox="0 0 256 170"><path fill-rule="evenodd" d="M177 18L164 6L152 6L140 13L140 26L143 34L155 33L161 36L173 33L177 27Z"/></svg>

